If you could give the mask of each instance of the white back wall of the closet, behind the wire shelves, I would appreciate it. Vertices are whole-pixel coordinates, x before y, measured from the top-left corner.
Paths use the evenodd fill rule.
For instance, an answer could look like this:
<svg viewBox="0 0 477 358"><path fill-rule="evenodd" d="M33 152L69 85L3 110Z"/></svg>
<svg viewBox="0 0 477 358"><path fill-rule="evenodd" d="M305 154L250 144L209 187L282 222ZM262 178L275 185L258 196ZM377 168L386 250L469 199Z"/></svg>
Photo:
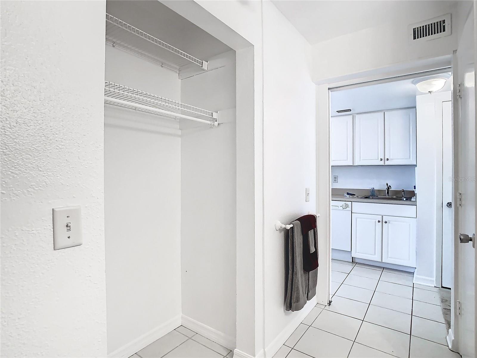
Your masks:
<svg viewBox="0 0 477 358"><path fill-rule="evenodd" d="M105 79L180 100L175 72L109 45ZM180 325L180 137L112 105L104 123L108 354L132 355Z"/></svg>

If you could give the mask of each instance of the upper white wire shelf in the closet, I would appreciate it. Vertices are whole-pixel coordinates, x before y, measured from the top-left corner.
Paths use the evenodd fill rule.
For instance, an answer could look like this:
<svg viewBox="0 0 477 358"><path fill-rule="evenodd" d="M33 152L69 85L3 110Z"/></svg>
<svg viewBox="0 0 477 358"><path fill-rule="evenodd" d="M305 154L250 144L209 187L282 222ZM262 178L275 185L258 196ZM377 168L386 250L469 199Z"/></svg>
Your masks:
<svg viewBox="0 0 477 358"><path fill-rule="evenodd" d="M207 70L207 61L185 53L108 13L106 13L106 42L136 53L176 72L191 63Z"/></svg>

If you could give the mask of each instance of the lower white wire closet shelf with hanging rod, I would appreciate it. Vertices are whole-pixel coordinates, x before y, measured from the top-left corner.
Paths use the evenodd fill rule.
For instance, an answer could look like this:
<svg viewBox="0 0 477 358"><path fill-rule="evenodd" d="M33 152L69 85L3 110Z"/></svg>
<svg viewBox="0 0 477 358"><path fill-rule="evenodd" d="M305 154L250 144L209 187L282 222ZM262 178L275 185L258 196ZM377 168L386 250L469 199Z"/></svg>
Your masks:
<svg viewBox="0 0 477 358"><path fill-rule="evenodd" d="M218 112L186 105L169 98L140 91L122 84L104 81L104 103L139 110L167 118L189 119L218 125Z"/></svg>

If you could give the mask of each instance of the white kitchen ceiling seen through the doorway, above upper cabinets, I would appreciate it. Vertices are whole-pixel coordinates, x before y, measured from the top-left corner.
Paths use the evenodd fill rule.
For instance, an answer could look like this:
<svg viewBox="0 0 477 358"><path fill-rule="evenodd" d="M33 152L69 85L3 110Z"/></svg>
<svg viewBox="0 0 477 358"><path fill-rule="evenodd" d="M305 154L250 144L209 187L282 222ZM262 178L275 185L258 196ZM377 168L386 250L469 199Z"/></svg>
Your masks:
<svg viewBox="0 0 477 358"><path fill-rule="evenodd" d="M439 75L431 77L440 77ZM427 77L420 79L425 80ZM331 116L340 116L337 110L351 108L353 113L364 113L382 111L385 109L396 109L415 107L416 95L425 95L417 90L413 84L414 79L388 82L383 84L373 84L370 86L356 87L335 91L331 93ZM443 89L438 92L450 91L451 80L448 79Z"/></svg>

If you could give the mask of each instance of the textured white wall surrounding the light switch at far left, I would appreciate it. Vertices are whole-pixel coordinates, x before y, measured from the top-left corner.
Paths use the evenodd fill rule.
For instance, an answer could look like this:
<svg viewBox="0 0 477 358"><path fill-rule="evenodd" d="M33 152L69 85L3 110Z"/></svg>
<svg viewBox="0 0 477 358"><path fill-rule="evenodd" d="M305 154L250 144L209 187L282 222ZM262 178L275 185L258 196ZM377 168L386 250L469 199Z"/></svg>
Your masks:
<svg viewBox="0 0 477 358"><path fill-rule="evenodd" d="M2 357L106 355L104 11L1 4ZM82 207L83 245L53 251L64 205Z"/></svg>

